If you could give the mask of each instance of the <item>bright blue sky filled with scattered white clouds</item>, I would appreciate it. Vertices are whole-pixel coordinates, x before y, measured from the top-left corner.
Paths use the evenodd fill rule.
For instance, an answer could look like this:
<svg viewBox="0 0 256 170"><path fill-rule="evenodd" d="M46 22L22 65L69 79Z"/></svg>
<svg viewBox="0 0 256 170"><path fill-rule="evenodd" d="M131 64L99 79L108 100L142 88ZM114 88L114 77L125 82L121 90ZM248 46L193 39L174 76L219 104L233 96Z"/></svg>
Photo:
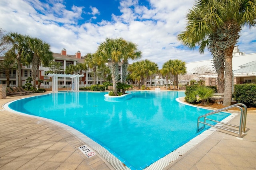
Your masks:
<svg viewBox="0 0 256 170"><path fill-rule="evenodd" d="M170 59L194 62L211 59L206 50L184 47L177 35L194 0L0 0L0 27L38 37L54 53L94 53L107 37L123 37L138 45L142 59L162 64ZM255 28L244 27L238 45L256 53ZM131 62L130 62L131 63Z"/></svg>

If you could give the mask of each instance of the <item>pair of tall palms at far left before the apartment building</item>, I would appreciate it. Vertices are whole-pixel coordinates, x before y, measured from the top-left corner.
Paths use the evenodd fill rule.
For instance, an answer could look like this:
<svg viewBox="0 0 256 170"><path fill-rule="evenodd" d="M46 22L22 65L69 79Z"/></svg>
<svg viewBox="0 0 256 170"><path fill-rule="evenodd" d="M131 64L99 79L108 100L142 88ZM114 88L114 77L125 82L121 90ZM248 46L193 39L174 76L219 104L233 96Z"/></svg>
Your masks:
<svg viewBox="0 0 256 170"><path fill-rule="evenodd" d="M15 59L18 66L18 86L22 86L21 64L23 63L32 65L33 86L36 88L36 80L39 80L39 66L47 65L53 59L50 45L41 39L13 32L5 35L4 40L11 45L5 53L5 60Z"/></svg>

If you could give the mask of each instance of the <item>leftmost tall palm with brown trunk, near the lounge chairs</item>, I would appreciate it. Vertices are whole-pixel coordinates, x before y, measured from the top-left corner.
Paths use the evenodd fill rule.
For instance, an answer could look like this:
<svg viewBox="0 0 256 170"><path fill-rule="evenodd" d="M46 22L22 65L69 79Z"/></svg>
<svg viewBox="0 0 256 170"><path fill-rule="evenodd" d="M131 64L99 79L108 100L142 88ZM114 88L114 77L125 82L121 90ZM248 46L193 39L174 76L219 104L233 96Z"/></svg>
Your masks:
<svg viewBox="0 0 256 170"><path fill-rule="evenodd" d="M13 33L10 32L7 35L4 36L4 39L6 42L11 44L11 49L9 49L6 52L6 55L16 55L16 61L18 64L18 86L22 85L22 80L21 80L21 60L24 58L24 56L27 53L27 48L28 48L28 39L30 37L28 35L21 35L18 33Z"/></svg>

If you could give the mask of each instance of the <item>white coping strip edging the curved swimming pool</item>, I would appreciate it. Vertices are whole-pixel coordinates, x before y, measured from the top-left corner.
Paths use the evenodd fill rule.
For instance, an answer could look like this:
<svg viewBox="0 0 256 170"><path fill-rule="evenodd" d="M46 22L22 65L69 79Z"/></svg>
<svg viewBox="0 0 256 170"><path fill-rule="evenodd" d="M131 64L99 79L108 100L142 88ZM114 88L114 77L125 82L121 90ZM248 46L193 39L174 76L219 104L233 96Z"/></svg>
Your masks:
<svg viewBox="0 0 256 170"><path fill-rule="evenodd" d="M50 93L48 93L48 94L50 94ZM44 94L44 95L47 95L47 94ZM28 98L30 98L30 97L34 97L34 96L29 96ZM182 98L184 98L184 97L182 97ZM23 98L20 98L18 100L21 100L21 99L23 99ZM16 100L13 100L11 102L14 102L14 101L16 101ZM182 102L180 100L180 98L177 98L176 101L186 104L186 103ZM11 102L7 102L2 107L11 113L16 113L18 115L23 115L23 116L27 116L27 117L36 118L36 119L42 119L44 121L48 121L50 123L53 123L54 125L62 127L64 129L66 129L67 131L69 131L70 133L72 133L73 135L75 135L76 137L78 137L81 141L83 141L85 143L85 145L88 145L89 147L91 147L96 153L98 153L99 156L104 158L104 160L106 160L114 169L116 169L116 170L129 170L130 169L131 166L127 167L125 164L125 161L122 162L121 160L116 158L116 156L114 156L114 154L110 153L109 150L102 147L100 144L96 143L95 141L93 141L86 135L82 134L81 132L77 131L76 129L74 129L68 125L65 125L63 123L60 123L58 121L54 121L54 120L47 119L44 117L38 117L38 116L28 115L25 113L20 113L18 111L14 111L8 107L8 104L10 104ZM207 109L207 108L204 108L204 109ZM208 109L208 110L211 110L211 109ZM236 115L237 115L237 113L231 113L230 116L226 117L222 121L228 122L231 119L233 119ZM155 161L154 163L150 164L148 167L146 167L144 169L145 170L150 170L150 169L162 170L163 168L166 168L168 165L170 165L172 162L174 162L174 160L177 160L178 158L180 158L180 156L182 156L183 154L188 152L190 149L194 148L196 145L198 145L198 143L202 142L204 139L206 139L209 135L214 133L214 131L216 131L216 130L217 130L217 128L211 127L210 129L197 135L196 137L194 137L193 139L191 139L190 141L188 141L187 143L185 143L178 149L170 152L166 156L160 158L159 160Z"/></svg>

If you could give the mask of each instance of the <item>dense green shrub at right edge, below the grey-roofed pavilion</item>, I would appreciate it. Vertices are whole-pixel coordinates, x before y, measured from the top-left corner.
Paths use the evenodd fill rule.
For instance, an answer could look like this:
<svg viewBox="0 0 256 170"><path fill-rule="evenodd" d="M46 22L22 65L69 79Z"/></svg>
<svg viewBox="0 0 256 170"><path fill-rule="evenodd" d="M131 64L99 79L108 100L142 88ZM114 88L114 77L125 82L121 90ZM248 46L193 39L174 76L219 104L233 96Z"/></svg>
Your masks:
<svg viewBox="0 0 256 170"><path fill-rule="evenodd" d="M256 84L235 84L234 100L247 107L256 107Z"/></svg>

